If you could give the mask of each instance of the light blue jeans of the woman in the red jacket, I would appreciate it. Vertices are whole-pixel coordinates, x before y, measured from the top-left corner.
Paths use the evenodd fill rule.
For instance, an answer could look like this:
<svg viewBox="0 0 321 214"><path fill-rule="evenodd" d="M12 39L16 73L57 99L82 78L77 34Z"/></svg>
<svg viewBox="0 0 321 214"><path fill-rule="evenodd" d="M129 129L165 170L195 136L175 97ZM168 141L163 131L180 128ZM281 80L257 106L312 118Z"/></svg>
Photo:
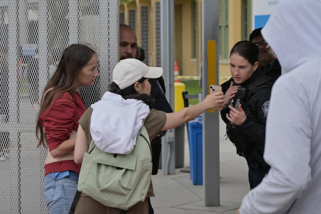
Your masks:
<svg viewBox="0 0 321 214"><path fill-rule="evenodd" d="M50 214L68 214L77 191L78 181L70 178L53 180L46 175L43 196Z"/></svg>

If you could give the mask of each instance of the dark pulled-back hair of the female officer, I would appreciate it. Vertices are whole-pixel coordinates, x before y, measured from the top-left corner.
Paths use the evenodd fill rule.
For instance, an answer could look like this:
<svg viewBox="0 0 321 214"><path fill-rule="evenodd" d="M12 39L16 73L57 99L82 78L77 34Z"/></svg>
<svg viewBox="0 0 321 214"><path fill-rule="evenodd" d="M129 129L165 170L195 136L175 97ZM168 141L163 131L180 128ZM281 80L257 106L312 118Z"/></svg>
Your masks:
<svg viewBox="0 0 321 214"><path fill-rule="evenodd" d="M231 49L230 57L232 54L238 54L254 65L259 59L259 48L251 41L239 41Z"/></svg>

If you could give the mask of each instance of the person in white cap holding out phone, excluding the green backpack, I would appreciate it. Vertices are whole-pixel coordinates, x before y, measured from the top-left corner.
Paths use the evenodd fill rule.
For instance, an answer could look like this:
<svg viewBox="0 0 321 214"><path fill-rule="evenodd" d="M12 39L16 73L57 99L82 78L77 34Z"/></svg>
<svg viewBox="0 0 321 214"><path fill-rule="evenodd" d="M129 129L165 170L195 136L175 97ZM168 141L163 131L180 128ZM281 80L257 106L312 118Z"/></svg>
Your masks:
<svg viewBox="0 0 321 214"><path fill-rule="evenodd" d="M203 102L181 111L165 113L152 109L149 78L162 75L160 67L148 67L143 62L129 58L117 63L113 70L109 92L91 105L79 120L74 160L81 164L91 139L102 151L112 154L128 154L134 148L138 131L143 126L150 141L162 130L173 129L195 119L204 111L223 106L222 92L207 95ZM121 137L119 137L121 136ZM134 138L133 138L134 136ZM108 178L106 178L108 179ZM148 214L148 198L154 197L152 182L146 200L127 210L129 213ZM107 210L107 211L106 211ZM81 196L75 213L120 213L117 208L106 207L91 197Z"/></svg>

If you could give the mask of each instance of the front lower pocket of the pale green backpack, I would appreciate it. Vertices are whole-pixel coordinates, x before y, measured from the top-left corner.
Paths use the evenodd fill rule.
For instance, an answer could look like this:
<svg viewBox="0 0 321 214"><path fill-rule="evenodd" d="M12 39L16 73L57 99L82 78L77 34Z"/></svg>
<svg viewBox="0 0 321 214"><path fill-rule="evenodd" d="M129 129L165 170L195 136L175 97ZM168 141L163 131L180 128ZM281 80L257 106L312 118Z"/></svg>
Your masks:
<svg viewBox="0 0 321 214"><path fill-rule="evenodd" d="M132 170L100 164L98 183L102 192L127 195L132 189Z"/></svg>

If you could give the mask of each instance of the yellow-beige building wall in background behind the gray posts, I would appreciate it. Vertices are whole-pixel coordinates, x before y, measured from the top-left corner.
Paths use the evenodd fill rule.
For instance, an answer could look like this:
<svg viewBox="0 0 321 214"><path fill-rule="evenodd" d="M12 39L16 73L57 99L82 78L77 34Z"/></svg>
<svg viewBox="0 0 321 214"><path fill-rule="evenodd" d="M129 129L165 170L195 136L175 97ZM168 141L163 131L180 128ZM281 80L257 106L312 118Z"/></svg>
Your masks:
<svg viewBox="0 0 321 214"><path fill-rule="evenodd" d="M192 58L192 1L193 0L175 0L174 1L174 57L178 63L179 74L183 76L196 76L197 64L200 66L202 61L202 0L194 0L198 8L198 56ZM132 0L129 4L122 4L120 12L124 13L124 22L128 24L128 10L136 10L136 35L137 42L141 44L141 19L140 7L148 6L149 19L149 63L150 66L156 66L156 23L155 23L155 3L160 0ZM241 40L241 0L229 0L229 50L233 45ZM229 60L219 61L220 83L227 81L230 74Z"/></svg>

